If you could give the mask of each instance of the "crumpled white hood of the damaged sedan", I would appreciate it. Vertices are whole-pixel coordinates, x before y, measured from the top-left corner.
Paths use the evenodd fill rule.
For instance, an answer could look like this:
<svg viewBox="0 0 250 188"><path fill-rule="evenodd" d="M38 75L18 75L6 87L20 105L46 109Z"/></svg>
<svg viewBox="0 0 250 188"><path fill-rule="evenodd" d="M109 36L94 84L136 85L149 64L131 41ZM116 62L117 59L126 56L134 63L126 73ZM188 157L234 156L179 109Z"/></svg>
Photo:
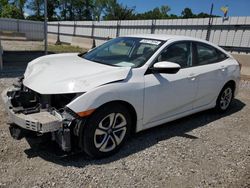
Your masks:
<svg viewBox="0 0 250 188"><path fill-rule="evenodd" d="M76 53L48 55L28 64L23 84L40 94L81 93L124 80L130 69L88 61Z"/></svg>

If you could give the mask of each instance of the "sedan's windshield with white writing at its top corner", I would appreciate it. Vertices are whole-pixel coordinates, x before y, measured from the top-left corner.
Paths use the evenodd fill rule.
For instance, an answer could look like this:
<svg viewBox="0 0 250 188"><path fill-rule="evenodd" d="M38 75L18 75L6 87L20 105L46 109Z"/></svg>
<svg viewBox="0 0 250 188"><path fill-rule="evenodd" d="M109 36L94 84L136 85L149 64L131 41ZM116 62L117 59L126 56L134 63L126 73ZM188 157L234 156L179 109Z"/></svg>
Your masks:
<svg viewBox="0 0 250 188"><path fill-rule="evenodd" d="M161 40L119 37L84 54L84 59L119 67L140 67L163 44Z"/></svg>

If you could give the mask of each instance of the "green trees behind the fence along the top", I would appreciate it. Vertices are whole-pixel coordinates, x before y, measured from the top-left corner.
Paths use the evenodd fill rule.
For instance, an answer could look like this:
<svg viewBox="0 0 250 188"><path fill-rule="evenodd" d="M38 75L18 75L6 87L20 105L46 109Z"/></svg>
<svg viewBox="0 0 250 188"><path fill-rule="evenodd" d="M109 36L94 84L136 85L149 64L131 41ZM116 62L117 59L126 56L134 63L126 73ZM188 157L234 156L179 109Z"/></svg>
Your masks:
<svg viewBox="0 0 250 188"><path fill-rule="evenodd" d="M185 8L181 16L169 14L170 7L163 5L152 10L136 13L135 7L128 7L118 0L47 0L48 20L138 20L138 19L178 19L206 18L209 14L194 14ZM32 15L26 19L44 20L44 0L0 0L0 16L24 19L24 10ZM212 15L216 17L215 15Z"/></svg>

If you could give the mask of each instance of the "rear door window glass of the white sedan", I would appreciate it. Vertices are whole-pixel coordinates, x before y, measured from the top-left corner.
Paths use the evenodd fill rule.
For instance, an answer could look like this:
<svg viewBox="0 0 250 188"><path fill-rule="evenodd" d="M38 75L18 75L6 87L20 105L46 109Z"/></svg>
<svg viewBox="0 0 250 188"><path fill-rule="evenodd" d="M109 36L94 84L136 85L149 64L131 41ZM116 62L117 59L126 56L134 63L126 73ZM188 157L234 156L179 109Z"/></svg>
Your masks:
<svg viewBox="0 0 250 188"><path fill-rule="evenodd" d="M196 50L197 65L216 63L227 58L226 54L207 44L196 43Z"/></svg>

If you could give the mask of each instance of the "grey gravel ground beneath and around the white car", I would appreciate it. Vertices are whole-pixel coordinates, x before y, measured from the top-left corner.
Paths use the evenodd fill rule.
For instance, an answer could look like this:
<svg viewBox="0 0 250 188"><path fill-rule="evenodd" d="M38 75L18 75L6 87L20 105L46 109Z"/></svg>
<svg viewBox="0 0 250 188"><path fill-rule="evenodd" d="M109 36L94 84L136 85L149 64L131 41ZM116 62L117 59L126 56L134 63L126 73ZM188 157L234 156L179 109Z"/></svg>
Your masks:
<svg viewBox="0 0 250 188"><path fill-rule="evenodd" d="M13 80L0 79L0 92ZM107 159L62 159L13 140L0 102L0 187L250 187L249 112L250 82L242 82L227 114L138 133Z"/></svg>

